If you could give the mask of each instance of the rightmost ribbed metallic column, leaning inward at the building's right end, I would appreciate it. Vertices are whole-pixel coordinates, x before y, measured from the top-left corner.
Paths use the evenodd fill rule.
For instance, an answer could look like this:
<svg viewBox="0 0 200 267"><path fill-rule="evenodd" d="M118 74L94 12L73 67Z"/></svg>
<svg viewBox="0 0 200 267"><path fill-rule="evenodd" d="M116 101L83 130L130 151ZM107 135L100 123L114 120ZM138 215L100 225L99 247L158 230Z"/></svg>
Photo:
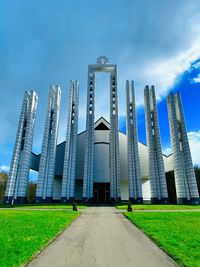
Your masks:
<svg viewBox="0 0 200 267"><path fill-rule="evenodd" d="M167 98L167 104L177 203L200 204L180 94L174 95L170 93Z"/></svg>

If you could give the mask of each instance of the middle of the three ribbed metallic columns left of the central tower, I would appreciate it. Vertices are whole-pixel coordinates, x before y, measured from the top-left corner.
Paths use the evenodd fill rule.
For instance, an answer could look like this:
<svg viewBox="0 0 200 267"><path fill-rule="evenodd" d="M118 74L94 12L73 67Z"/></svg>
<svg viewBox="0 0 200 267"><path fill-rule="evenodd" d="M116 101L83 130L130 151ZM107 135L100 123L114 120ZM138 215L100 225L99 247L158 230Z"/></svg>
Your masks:
<svg viewBox="0 0 200 267"><path fill-rule="evenodd" d="M37 202L51 202L53 199L60 97L60 87L57 86L55 89L52 85L49 90L46 122L40 157L39 176L36 190Z"/></svg>

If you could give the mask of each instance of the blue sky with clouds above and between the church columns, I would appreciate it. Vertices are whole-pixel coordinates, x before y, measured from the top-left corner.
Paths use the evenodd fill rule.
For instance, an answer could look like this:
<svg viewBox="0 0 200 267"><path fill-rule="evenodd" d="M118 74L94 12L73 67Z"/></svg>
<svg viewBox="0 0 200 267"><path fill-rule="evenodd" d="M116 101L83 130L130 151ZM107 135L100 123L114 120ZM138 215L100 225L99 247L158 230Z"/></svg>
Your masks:
<svg viewBox="0 0 200 267"><path fill-rule="evenodd" d="M41 150L50 84L62 89L59 142L65 139L70 79L80 82L79 131L84 130L87 67L100 55L118 65L122 130L125 81L135 81L144 143L143 90L155 85L165 153L171 147L166 96L182 93L193 160L200 164L199 21L198 0L0 1L0 169L10 164L24 90L34 89L39 96L35 153ZM109 117L107 81L105 74L97 75L96 119Z"/></svg>

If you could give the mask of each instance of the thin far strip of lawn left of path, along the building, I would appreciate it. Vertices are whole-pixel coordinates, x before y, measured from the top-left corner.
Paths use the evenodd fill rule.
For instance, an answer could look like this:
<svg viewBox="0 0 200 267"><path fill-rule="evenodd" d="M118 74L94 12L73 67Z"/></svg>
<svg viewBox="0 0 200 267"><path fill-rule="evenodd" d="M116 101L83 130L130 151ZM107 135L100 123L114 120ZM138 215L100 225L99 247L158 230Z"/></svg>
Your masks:
<svg viewBox="0 0 200 267"><path fill-rule="evenodd" d="M78 209L86 208L86 204L78 204ZM28 209L72 209L72 204L24 204L24 205L1 205L0 208L28 208Z"/></svg>

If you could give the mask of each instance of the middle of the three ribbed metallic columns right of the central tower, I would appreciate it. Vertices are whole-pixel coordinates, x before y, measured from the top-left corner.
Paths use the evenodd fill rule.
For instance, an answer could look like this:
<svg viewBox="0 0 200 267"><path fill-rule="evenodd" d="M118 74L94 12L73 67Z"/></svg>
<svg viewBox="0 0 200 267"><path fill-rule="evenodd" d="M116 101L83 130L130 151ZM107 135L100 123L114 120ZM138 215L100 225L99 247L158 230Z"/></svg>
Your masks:
<svg viewBox="0 0 200 267"><path fill-rule="evenodd" d="M166 176L162 155L160 129L158 122L158 112L156 106L156 97L154 86L149 90L149 86L145 87L145 117L147 146L149 155L149 175L151 186L151 202L152 203L168 203L168 192L166 184Z"/></svg>

